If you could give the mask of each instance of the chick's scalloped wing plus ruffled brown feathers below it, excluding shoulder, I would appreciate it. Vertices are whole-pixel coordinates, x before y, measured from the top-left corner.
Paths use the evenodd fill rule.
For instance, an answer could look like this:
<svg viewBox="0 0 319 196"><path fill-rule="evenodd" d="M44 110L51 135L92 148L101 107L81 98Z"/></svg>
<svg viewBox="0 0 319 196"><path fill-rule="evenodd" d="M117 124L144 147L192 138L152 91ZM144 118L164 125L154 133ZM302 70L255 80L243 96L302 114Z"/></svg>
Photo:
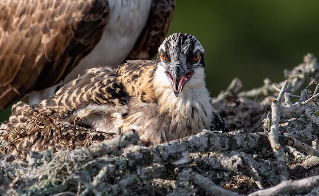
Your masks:
<svg viewBox="0 0 319 196"><path fill-rule="evenodd" d="M21 101L14 104L9 121L0 126L0 145L10 143L13 152L19 154L24 148L42 151L53 146L86 146L89 141L102 141L114 135L117 117L114 114L119 113L121 118L126 113L123 105L129 100L117 77L110 68L88 69L39 104ZM81 127L84 124L93 128L98 118L108 131ZM0 152L3 150L0 148Z"/></svg>

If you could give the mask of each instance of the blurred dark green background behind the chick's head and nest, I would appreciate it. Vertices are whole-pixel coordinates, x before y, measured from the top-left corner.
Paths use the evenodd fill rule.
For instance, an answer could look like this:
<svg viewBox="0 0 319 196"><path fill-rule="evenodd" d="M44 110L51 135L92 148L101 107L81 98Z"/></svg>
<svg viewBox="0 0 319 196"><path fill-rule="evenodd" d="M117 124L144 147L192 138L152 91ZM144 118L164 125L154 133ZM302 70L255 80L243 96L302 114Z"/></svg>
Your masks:
<svg viewBox="0 0 319 196"><path fill-rule="evenodd" d="M169 33L196 36L205 49L206 82L212 96L234 77L243 90L263 79L283 80L283 70L302 63L303 55L319 57L319 1L177 0ZM10 109L0 113L8 119Z"/></svg>

